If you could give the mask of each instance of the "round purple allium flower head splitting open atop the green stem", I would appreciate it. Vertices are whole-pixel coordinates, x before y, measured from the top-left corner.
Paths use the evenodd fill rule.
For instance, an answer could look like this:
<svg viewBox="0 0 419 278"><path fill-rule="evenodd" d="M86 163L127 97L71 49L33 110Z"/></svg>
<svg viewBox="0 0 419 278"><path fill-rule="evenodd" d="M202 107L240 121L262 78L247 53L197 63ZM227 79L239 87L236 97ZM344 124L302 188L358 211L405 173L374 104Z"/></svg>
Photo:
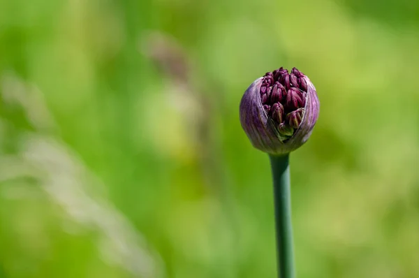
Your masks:
<svg viewBox="0 0 419 278"><path fill-rule="evenodd" d="M274 155L292 152L306 142L320 103L309 78L293 68L266 73L244 92L240 122L257 149Z"/></svg>

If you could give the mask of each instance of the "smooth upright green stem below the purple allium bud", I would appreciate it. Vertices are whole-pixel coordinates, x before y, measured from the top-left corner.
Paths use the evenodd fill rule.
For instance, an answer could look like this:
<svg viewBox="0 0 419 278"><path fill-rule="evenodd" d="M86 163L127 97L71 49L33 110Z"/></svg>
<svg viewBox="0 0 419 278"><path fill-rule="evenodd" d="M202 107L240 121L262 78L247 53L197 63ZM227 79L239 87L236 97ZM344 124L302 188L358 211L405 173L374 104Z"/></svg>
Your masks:
<svg viewBox="0 0 419 278"><path fill-rule="evenodd" d="M270 156L274 179L279 278L295 278L289 155Z"/></svg>

